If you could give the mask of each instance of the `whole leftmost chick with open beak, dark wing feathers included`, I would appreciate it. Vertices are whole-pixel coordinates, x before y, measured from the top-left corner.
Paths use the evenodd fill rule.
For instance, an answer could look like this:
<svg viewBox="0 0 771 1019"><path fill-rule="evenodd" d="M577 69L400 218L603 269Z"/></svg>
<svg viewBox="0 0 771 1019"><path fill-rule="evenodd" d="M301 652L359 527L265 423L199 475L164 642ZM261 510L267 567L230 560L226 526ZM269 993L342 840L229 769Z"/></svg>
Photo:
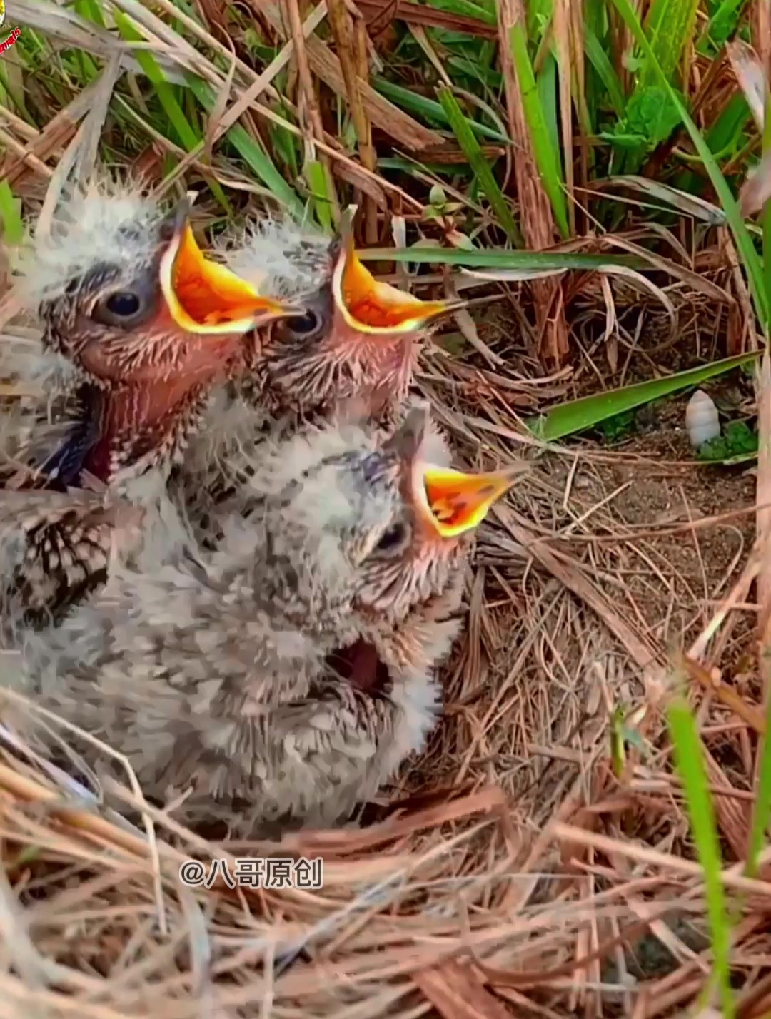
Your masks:
<svg viewBox="0 0 771 1019"><path fill-rule="evenodd" d="M48 391L20 421L6 421L4 487L65 490L91 477L140 501L160 497L244 334L297 312L207 259L189 211L183 202L165 213L103 179L72 195L23 253L17 292L43 325L41 353L23 367ZM18 367L11 361L4 374ZM57 397L59 420L50 422ZM47 521L33 492L29 511L14 498L5 514L25 542L4 579L32 612L55 613L102 582L110 535L93 512L85 530L74 508L61 517L52 507Z"/></svg>

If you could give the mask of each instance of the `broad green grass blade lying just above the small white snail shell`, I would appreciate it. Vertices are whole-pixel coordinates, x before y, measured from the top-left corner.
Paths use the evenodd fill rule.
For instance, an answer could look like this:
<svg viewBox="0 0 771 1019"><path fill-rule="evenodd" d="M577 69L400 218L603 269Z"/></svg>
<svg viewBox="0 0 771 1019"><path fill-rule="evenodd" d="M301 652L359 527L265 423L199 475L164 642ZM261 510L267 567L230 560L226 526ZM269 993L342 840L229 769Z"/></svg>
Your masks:
<svg viewBox="0 0 771 1019"><path fill-rule="evenodd" d="M546 442L554 442L566 435L573 435L586 428L594 428L601 421L613 418L617 414L623 414L624 411L644 407L646 404L661 399L663 396L669 396L680 389L686 389L688 386L701 385L707 379L747 365L758 357L760 357L759 351L751 351L748 354L738 354L733 358L725 358L723 361L714 361L710 365L690 368L688 371L678 372L676 375L670 375L664 379L651 379L648 382L636 382L634 385L623 386L621 389L613 389L610 392L581 396L580 399L560 404L559 407L552 408L547 414L531 418L525 423L538 438Z"/></svg>

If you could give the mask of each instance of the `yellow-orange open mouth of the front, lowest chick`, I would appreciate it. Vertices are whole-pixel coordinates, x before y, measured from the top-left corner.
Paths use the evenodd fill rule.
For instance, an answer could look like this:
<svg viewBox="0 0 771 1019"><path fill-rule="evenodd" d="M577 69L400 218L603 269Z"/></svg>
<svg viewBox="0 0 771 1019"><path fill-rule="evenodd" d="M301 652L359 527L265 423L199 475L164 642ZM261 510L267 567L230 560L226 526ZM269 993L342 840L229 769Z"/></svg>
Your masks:
<svg viewBox="0 0 771 1019"><path fill-rule="evenodd" d="M527 464L516 464L487 474L464 474L423 466L419 480L425 517L441 537L457 538L478 527L493 503L527 470Z"/></svg>

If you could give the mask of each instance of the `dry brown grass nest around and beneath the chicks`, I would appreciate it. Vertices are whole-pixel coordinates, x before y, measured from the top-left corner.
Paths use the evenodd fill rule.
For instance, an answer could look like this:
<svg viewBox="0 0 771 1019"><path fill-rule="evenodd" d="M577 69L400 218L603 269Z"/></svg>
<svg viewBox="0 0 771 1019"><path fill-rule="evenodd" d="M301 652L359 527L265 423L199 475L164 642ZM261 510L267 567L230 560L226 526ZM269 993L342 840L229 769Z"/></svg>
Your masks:
<svg viewBox="0 0 771 1019"><path fill-rule="evenodd" d="M480 531L426 752L362 824L247 845L186 830L126 774L110 792L141 815L133 826L6 745L4 1014L672 1014L710 972L666 735L673 649L686 652L737 894L739 1014L761 1014L769 886L739 865L763 728L755 479L695 465L672 421L613 452L545 451L517 415L547 391L560 398L564 376L527 381L493 354L491 365L433 351L419 380L467 461L532 461ZM305 860L307 877L319 857L322 881L239 864Z"/></svg>

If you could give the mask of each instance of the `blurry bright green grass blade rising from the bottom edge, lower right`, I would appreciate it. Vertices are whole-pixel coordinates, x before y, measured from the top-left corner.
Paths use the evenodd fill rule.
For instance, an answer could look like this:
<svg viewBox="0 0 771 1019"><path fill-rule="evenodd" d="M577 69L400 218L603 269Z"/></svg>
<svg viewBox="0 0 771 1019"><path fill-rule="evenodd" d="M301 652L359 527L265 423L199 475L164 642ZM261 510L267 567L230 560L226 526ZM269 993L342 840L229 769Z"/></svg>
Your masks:
<svg viewBox="0 0 771 1019"><path fill-rule="evenodd" d="M722 1019L735 1015L731 988L731 930L725 892L720 876L722 863L715 811L707 783L702 741L688 705L676 700L668 711L677 770L682 780L685 802L699 862L704 870L707 913L712 931L713 979L720 990Z"/></svg>

